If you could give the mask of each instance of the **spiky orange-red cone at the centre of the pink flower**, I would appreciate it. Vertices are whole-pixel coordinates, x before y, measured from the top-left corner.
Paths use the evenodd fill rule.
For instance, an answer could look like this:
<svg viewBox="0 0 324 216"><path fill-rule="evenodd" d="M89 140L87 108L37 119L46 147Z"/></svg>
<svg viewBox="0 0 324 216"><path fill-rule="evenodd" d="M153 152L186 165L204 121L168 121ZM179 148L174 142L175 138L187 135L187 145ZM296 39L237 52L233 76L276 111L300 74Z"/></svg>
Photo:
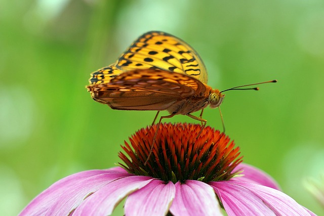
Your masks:
<svg viewBox="0 0 324 216"><path fill-rule="evenodd" d="M156 125L142 128L130 138L130 145L125 142L121 146L128 156L119 152L126 164L120 165L130 173L174 183L229 180L237 173L232 170L242 161L239 147L210 126L201 131L200 124L190 123L160 124L152 154L144 165L155 130Z"/></svg>

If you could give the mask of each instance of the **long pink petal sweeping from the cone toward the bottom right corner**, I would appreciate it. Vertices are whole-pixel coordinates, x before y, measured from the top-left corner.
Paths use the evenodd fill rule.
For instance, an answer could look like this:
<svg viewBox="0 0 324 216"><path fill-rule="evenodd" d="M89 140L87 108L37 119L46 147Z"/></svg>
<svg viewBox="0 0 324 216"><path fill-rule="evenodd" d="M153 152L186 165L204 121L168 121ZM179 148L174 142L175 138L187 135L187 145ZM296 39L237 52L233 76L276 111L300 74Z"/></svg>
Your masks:
<svg viewBox="0 0 324 216"><path fill-rule="evenodd" d="M310 215L293 198L258 184L210 182L230 215Z"/></svg>

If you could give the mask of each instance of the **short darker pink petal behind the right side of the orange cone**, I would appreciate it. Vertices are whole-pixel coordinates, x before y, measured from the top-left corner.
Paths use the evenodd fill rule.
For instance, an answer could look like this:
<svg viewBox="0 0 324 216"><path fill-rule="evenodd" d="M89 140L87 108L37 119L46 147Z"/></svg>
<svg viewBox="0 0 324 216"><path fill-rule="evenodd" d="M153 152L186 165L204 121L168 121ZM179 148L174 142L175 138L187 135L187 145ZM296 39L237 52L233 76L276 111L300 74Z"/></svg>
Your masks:
<svg viewBox="0 0 324 216"><path fill-rule="evenodd" d="M238 164L233 171L237 171L238 169L243 170L240 174L243 174L244 176L234 177L230 181L250 182L280 190L277 182L261 169L245 163Z"/></svg>

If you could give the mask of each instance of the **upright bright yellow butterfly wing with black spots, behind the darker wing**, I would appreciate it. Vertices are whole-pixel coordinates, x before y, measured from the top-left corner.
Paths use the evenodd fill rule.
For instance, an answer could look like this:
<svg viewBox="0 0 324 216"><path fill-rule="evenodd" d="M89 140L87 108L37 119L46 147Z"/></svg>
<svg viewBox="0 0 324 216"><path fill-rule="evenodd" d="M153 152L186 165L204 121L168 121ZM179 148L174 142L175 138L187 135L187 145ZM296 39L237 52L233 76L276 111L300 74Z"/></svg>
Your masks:
<svg viewBox="0 0 324 216"><path fill-rule="evenodd" d="M177 72L205 84L208 81L203 60L192 47L171 34L150 31L135 40L117 62L93 72L90 83L107 83L121 73L138 69Z"/></svg>

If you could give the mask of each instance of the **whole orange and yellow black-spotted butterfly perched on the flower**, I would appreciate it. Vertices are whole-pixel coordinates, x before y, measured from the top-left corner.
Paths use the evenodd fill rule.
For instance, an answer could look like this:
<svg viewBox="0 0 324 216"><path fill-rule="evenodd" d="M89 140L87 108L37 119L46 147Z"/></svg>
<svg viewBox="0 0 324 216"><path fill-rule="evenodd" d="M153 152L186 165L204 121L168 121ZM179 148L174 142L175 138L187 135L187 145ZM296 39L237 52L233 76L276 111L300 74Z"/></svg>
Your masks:
<svg viewBox="0 0 324 216"><path fill-rule="evenodd" d="M208 105L219 107L225 97L222 92L253 85L222 92L212 89L198 53L182 39L161 31L141 35L115 63L93 72L89 81L91 97L112 109L156 110L152 125L159 111L169 111L170 115L160 117L157 128L163 118L178 114L198 120L205 127L203 110ZM191 114L199 110L199 117ZM153 143L156 134L157 129Z"/></svg>

